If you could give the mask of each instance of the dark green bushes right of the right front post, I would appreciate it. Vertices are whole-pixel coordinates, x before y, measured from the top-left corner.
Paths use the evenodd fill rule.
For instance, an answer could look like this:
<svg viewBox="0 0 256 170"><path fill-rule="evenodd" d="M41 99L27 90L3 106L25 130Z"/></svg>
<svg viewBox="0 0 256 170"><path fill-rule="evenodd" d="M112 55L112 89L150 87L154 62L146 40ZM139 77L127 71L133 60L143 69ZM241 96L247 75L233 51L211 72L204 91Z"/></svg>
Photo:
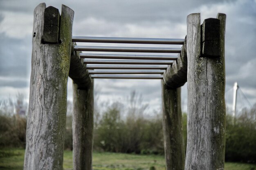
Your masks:
<svg viewBox="0 0 256 170"><path fill-rule="evenodd" d="M256 105L234 119L227 115L226 161L256 162Z"/></svg>

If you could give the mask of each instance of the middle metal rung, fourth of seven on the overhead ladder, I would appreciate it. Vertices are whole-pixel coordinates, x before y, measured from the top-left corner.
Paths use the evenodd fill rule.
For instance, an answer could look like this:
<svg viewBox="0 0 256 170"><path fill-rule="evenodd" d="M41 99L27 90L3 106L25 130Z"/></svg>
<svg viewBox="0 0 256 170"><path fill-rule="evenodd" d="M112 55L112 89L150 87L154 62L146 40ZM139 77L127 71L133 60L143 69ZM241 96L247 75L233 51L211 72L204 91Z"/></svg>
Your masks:
<svg viewBox="0 0 256 170"><path fill-rule="evenodd" d="M173 62L169 60L88 60L85 59L84 64L153 64L153 65L171 65Z"/></svg>

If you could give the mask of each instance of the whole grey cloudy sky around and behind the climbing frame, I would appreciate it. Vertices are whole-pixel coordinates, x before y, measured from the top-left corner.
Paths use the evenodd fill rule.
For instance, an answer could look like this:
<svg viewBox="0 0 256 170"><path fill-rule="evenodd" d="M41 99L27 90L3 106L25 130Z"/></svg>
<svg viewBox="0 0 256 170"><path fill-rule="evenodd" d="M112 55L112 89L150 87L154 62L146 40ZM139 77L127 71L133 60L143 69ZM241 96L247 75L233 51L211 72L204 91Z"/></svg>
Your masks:
<svg viewBox="0 0 256 170"><path fill-rule="evenodd" d="M34 8L38 0L0 0L0 99L29 95ZM227 14L226 100L232 102L238 82L251 104L256 103L256 0L45 0L75 11L74 36L184 38L186 16L201 13L201 22ZM68 99L72 99L68 81ZM96 79L99 100L117 101L131 91L143 95L149 110L161 107L160 80ZM240 100L240 101L239 101ZM238 103L248 106L240 92ZM186 85L182 88L186 110Z"/></svg>

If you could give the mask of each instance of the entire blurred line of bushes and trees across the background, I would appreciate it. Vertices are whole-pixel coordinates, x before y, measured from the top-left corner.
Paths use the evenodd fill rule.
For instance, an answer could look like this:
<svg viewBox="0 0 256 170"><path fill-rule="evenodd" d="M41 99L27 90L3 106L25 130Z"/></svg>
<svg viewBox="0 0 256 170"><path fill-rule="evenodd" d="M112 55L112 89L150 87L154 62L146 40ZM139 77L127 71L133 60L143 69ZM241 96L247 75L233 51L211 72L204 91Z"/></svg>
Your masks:
<svg viewBox="0 0 256 170"><path fill-rule="evenodd" d="M147 104L135 92L121 101L106 105L95 104L94 150L164 154L161 113L146 114ZM15 106L15 102L0 101L0 148L25 148L26 117L13 114ZM71 102L68 102L67 107L65 149L72 150ZM226 117L226 161L255 163L256 104L240 111L235 120L228 112L229 110ZM186 113L183 114L183 130L186 145Z"/></svg>

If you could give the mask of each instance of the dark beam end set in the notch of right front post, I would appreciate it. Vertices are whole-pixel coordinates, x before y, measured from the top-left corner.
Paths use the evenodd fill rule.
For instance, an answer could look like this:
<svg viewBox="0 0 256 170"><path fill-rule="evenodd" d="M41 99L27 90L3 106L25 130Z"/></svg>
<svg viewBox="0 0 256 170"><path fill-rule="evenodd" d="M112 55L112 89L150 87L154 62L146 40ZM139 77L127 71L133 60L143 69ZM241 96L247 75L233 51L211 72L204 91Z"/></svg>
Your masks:
<svg viewBox="0 0 256 170"><path fill-rule="evenodd" d="M220 57L220 20L208 18L201 26L201 56Z"/></svg>

